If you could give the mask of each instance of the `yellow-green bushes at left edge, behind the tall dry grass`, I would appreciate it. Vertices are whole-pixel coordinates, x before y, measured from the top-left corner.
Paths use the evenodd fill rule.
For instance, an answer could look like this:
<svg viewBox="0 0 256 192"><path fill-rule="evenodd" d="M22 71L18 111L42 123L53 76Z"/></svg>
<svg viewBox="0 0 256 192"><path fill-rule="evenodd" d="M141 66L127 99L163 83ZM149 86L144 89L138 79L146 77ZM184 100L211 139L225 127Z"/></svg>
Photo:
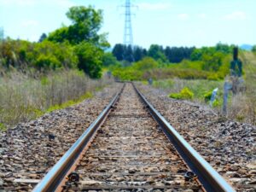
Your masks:
<svg viewBox="0 0 256 192"><path fill-rule="evenodd" d="M2 59L1 59L2 58ZM0 43L0 60L2 67L18 69L36 67L55 70L56 68L73 68L78 58L70 44L55 44L44 40L42 43L30 43L7 39ZM1 65L1 63L0 63Z"/></svg>

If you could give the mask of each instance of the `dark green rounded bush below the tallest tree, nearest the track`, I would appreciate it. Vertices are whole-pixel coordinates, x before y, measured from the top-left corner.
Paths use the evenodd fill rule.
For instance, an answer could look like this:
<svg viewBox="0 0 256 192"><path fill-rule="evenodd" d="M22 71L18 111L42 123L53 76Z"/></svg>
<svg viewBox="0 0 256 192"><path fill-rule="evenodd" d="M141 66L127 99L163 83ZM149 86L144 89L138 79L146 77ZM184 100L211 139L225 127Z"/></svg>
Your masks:
<svg viewBox="0 0 256 192"><path fill-rule="evenodd" d="M82 69L92 79L102 77L102 49L93 44L82 42L76 46L75 53L79 57L79 69Z"/></svg>

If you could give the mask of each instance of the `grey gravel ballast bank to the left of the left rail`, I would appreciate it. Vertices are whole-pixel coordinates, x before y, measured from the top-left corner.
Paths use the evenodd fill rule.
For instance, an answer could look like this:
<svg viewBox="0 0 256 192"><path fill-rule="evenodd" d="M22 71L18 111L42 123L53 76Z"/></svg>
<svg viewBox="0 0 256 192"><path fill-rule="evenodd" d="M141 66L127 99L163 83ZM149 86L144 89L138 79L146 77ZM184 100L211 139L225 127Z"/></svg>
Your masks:
<svg viewBox="0 0 256 192"><path fill-rule="evenodd" d="M92 123L122 84L69 108L0 133L0 191L28 191L15 179L41 179Z"/></svg>

